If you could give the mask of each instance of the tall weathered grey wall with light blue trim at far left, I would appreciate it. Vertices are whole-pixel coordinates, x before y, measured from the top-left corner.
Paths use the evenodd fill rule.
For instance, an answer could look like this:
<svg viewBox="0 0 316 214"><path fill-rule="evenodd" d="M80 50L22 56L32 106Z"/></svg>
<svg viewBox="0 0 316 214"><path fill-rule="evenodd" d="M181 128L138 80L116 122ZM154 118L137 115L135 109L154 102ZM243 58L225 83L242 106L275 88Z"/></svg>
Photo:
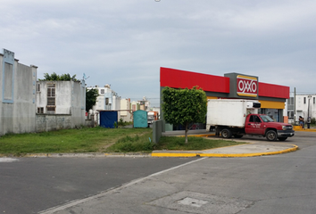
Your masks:
<svg viewBox="0 0 316 214"><path fill-rule="evenodd" d="M0 53L0 136L35 132L37 67L14 59L14 53Z"/></svg>

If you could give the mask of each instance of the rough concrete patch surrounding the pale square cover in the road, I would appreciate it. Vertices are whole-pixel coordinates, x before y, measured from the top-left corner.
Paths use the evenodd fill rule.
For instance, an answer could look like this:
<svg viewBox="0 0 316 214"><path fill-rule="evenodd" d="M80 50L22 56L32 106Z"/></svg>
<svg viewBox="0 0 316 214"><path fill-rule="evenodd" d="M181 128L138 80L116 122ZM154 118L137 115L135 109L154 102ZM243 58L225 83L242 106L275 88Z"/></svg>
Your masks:
<svg viewBox="0 0 316 214"><path fill-rule="evenodd" d="M253 203L252 201L221 195L184 191L165 196L146 204L188 213L235 214L240 210L250 207Z"/></svg>

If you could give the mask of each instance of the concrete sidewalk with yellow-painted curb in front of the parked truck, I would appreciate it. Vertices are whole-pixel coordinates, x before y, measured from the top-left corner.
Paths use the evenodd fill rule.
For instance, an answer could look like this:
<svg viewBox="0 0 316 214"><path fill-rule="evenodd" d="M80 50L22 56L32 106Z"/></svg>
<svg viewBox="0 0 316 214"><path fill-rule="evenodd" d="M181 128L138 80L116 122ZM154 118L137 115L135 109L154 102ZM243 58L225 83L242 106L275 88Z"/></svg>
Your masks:
<svg viewBox="0 0 316 214"><path fill-rule="evenodd" d="M183 136L184 131L165 132L164 136ZM188 136L204 136L208 139L219 139L214 133L207 133L206 130L189 131ZM153 157L254 157L262 155L280 154L286 152L294 152L298 149L295 144L287 144L281 142L262 142L255 140L232 139L236 142L245 142L247 144L239 144L228 147L221 147L203 151L154 151Z"/></svg>

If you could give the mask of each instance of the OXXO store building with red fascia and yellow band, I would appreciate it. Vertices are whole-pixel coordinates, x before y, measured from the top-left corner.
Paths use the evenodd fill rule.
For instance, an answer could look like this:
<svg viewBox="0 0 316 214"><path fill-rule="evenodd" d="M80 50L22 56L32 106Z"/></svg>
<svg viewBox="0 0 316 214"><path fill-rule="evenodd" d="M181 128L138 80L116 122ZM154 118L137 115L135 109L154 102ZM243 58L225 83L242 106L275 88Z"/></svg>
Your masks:
<svg viewBox="0 0 316 214"><path fill-rule="evenodd" d="M209 74L196 73L186 70L161 68L160 89L162 106L162 89L165 86L173 88L192 88L200 86L207 99L250 99L258 100L262 104L259 113L267 114L278 122L287 122L284 116L285 103L289 98L289 86L279 86L262 83L258 77L239 73L227 73L224 77ZM163 112L161 108L161 117ZM204 128L203 124L194 128ZM166 124L165 130L179 130L179 126Z"/></svg>

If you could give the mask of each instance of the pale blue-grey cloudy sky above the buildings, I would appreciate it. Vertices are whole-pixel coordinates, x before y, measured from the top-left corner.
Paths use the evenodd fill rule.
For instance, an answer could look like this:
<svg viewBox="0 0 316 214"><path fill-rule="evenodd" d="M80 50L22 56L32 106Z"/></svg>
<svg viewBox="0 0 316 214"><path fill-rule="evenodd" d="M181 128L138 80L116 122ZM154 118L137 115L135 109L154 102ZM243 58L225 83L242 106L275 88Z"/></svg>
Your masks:
<svg viewBox="0 0 316 214"><path fill-rule="evenodd" d="M1 0L0 48L37 78L65 73L159 105L160 68L316 94L314 0Z"/></svg>

